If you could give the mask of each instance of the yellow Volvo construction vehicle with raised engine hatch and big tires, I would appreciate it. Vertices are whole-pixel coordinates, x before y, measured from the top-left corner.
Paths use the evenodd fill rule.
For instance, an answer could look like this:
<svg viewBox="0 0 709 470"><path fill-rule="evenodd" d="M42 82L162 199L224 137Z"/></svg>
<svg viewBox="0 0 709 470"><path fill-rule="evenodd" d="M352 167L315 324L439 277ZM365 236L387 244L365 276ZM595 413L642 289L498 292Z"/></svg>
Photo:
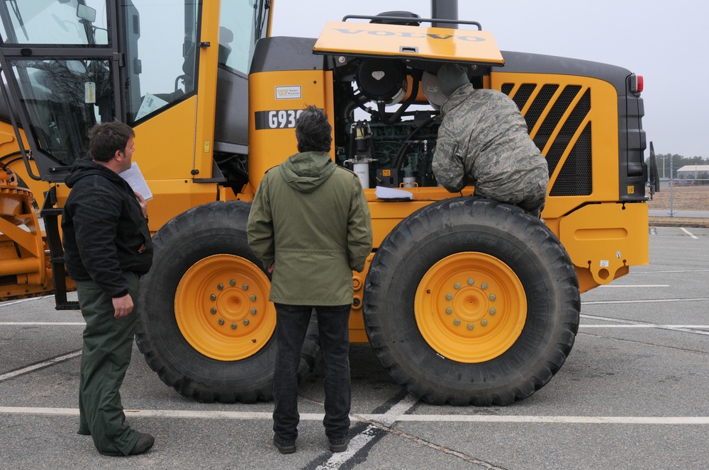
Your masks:
<svg viewBox="0 0 709 470"><path fill-rule="evenodd" d="M122 120L136 132L156 249L138 347L185 396L269 399L276 319L246 220L264 172L295 152L298 113L318 105L333 160L358 174L372 212L352 341L369 341L393 379L432 403L530 396L571 351L580 292L648 263L642 77L501 52L479 23L458 20L455 0L432 0L432 18L346 16L319 38L272 37L277 3L1 2L3 297L55 292L57 308L77 308L62 181L91 125ZM522 110L549 162L542 221L437 185L430 103L450 62ZM301 372L317 354L308 336Z"/></svg>

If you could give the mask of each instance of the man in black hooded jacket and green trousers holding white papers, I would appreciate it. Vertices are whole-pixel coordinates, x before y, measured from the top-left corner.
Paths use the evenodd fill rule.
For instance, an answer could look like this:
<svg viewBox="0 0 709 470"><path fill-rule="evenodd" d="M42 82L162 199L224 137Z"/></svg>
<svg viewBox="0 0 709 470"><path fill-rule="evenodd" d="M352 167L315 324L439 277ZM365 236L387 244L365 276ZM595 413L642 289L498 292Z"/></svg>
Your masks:
<svg viewBox="0 0 709 470"><path fill-rule="evenodd" d="M152 265L147 205L118 173L130 168L135 133L123 122L89 131L89 159L74 162L66 183L65 261L86 321L79 378L79 434L105 455L142 454L152 435L124 423L119 389L135 336L138 280Z"/></svg>

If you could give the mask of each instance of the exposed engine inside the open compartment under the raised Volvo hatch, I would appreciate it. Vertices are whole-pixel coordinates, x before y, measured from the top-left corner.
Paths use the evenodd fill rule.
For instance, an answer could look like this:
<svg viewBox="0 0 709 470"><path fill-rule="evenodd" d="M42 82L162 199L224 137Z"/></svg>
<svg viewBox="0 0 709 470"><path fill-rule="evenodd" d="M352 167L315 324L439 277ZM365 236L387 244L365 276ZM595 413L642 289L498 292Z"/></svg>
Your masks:
<svg viewBox="0 0 709 470"><path fill-rule="evenodd" d="M433 74L396 59L353 59L336 71L337 164L364 188L435 186L438 112L420 89Z"/></svg>

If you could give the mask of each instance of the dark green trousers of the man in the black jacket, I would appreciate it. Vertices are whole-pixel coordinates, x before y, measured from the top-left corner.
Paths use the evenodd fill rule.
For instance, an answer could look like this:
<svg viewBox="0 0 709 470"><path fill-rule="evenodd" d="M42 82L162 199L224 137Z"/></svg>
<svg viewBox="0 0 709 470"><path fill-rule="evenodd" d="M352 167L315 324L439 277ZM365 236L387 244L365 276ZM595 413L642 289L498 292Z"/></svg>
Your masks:
<svg viewBox="0 0 709 470"><path fill-rule="evenodd" d="M138 275L123 273L130 297L138 299ZM77 281L79 307L86 321L79 376L79 433L91 433L96 450L128 455L140 432L125 424L121 388L130 364L138 305L121 319L113 317L113 302L93 281Z"/></svg>

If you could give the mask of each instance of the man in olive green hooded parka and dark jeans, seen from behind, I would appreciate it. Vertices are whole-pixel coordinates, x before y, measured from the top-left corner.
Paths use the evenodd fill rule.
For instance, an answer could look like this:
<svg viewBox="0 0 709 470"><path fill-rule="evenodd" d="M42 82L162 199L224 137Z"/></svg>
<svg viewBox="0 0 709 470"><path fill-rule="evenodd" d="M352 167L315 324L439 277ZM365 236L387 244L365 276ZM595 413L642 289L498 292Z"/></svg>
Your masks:
<svg viewBox="0 0 709 470"><path fill-rule="evenodd" d="M352 270L372 251L372 221L359 178L328 151L332 127L315 106L296 121L298 154L267 171L249 215L249 246L272 272L278 352L273 379L274 445L296 452L303 340L315 309L325 360L325 435L332 452L350 441Z"/></svg>

